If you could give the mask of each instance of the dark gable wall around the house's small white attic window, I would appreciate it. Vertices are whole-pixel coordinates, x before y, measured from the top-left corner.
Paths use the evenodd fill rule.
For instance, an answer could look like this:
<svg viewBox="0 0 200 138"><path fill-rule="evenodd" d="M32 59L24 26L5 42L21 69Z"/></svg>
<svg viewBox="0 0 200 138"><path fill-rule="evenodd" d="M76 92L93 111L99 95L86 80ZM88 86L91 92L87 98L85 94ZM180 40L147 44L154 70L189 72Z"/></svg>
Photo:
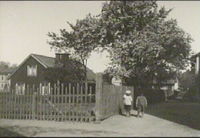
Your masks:
<svg viewBox="0 0 200 138"><path fill-rule="evenodd" d="M37 65L37 76L27 76L27 66ZM43 72L45 71L45 67L42 66L37 60L33 57L28 58L23 65L11 76L11 88L15 88L16 83L25 83L25 85L33 85L39 86L39 83L44 81Z"/></svg>

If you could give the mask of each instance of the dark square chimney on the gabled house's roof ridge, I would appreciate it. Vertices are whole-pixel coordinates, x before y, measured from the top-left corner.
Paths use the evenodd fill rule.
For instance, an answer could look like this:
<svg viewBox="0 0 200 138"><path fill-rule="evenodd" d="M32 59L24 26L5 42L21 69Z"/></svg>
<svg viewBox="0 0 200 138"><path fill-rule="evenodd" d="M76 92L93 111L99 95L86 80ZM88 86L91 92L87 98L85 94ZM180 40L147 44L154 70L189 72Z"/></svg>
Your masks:
<svg viewBox="0 0 200 138"><path fill-rule="evenodd" d="M69 53L56 53L55 64L56 67L63 67L69 59Z"/></svg>

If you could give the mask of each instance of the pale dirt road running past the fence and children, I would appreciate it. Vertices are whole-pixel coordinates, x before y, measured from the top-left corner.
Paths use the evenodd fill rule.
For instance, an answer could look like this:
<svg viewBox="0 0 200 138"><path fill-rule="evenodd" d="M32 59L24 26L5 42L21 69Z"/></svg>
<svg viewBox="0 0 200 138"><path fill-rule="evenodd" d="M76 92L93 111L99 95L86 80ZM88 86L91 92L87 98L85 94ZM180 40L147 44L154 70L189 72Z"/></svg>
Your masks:
<svg viewBox="0 0 200 138"><path fill-rule="evenodd" d="M166 103L169 104L169 103ZM176 104L176 103L175 103ZM164 106L163 104L160 104ZM156 105L154 105L156 106ZM157 105L158 106L158 105ZM172 104L174 106L174 104ZM160 107L161 108L161 107ZM156 110L159 108L157 107ZM152 111L153 112L153 111ZM135 111L133 111L135 114ZM112 116L100 124L73 123L34 120L0 120L0 127L17 132L23 136L179 136L200 137L200 130L187 125L162 119L160 116L145 114L144 118L135 116Z"/></svg>

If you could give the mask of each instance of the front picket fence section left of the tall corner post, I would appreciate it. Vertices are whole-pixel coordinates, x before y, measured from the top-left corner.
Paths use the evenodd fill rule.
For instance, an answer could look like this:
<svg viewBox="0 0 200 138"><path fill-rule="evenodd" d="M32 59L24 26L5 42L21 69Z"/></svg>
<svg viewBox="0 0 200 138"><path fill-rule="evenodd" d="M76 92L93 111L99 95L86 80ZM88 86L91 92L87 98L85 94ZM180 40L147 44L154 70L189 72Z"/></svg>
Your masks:
<svg viewBox="0 0 200 138"><path fill-rule="evenodd" d="M79 83L54 84L0 93L0 118L89 122L95 119L95 86Z"/></svg>

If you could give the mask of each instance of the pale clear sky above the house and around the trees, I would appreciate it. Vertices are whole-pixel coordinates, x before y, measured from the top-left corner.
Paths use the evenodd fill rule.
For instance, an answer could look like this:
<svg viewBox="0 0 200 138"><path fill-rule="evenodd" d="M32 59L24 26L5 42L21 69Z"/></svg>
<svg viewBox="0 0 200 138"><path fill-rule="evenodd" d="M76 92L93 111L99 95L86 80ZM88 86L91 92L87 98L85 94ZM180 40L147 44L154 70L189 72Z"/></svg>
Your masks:
<svg viewBox="0 0 200 138"><path fill-rule="evenodd" d="M101 12L103 1L0 1L0 61L20 64L29 54L54 57L47 44L48 32L69 29L88 13ZM158 1L159 6L173 8L168 18L193 38L194 53L200 52L200 1ZM92 53L88 67L94 72L106 69L109 59L104 53Z"/></svg>

